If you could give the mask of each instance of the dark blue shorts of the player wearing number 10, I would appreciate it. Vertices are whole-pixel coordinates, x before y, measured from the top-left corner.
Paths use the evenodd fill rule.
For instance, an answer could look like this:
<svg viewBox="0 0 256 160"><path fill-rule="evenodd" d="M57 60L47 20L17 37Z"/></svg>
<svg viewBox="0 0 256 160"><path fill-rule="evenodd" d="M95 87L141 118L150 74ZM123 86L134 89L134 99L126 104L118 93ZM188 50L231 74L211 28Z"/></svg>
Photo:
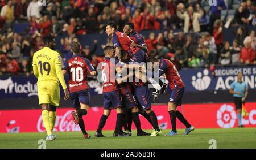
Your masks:
<svg viewBox="0 0 256 160"><path fill-rule="evenodd" d="M71 101L75 109L80 108L80 103L89 105L90 93L89 90L80 90L70 93Z"/></svg>

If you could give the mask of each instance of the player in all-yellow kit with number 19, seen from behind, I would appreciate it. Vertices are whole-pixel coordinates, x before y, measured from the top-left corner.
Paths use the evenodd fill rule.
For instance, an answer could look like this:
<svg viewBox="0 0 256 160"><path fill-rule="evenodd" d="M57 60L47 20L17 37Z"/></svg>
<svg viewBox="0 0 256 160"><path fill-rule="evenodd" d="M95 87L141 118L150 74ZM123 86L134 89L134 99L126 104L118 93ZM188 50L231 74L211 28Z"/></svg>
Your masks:
<svg viewBox="0 0 256 160"><path fill-rule="evenodd" d="M59 81L64 89L64 100L68 100L69 92L61 72L60 54L54 51L55 40L52 36L43 38L44 47L33 56L33 71L38 78L38 99L42 107L42 120L46 128L46 140L55 140L52 131L56 120L56 107L60 103Z"/></svg>

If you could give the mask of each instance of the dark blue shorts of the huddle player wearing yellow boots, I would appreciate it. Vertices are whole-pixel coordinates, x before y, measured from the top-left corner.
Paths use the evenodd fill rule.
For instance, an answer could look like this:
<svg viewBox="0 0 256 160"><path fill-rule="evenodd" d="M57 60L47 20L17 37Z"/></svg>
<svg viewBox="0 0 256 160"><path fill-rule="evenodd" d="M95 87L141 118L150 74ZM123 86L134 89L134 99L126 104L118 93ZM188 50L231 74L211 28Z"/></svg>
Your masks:
<svg viewBox="0 0 256 160"><path fill-rule="evenodd" d="M151 108L149 90L145 85L134 87L134 94L143 110Z"/></svg>

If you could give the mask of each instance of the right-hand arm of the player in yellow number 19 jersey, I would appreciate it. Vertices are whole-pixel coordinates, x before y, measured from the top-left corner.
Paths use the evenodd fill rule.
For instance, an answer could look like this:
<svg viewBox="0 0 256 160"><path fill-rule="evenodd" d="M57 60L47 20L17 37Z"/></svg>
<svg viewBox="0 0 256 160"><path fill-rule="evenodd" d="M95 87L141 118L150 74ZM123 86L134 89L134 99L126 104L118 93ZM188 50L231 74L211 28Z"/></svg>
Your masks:
<svg viewBox="0 0 256 160"><path fill-rule="evenodd" d="M59 54L55 55L54 65L55 65L57 77L60 81L60 84L61 84L62 88L64 89L64 93L65 93L64 100L68 100L69 92L68 92L68 89L67 89L67 85L65 83L63 72L61 70L61 58L60 58Z"/></svg>

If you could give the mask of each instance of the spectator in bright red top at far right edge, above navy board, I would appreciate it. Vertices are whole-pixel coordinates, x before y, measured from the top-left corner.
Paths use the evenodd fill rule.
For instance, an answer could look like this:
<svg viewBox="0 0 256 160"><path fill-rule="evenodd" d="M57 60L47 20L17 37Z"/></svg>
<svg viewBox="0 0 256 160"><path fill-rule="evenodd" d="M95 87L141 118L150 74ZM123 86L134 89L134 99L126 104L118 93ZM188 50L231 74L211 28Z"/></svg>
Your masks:
<svg viewBox="0 0 256 160"><path fill-rule="evenodd" d="M252 64L255 59L255 50L251 47L250 42L246 42L245 47L242 48L240 53L240 63Z"/></svg>

